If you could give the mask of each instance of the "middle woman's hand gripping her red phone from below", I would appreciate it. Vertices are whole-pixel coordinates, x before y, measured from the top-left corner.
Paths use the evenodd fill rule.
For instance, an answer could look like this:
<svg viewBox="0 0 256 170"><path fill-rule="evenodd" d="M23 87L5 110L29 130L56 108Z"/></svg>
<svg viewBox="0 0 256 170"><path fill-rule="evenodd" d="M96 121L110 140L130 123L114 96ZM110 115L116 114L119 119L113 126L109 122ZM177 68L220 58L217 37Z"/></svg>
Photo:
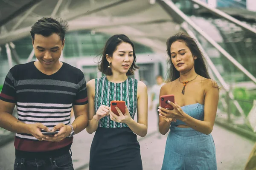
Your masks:
<svg viewBox="0 0 256 170"><path fill-rule="evenodd" d="M113 113L113 111L111 111L110 108L110 119L115 121L115 122L119 122L119 123L129 123L131 122L132 118L131 115L129 113L129 110L127 108L127 106L125 106L125 113L123 114L122 111L120 111L120 109L118 107L115 107L116 111L119 113L119 116L117 116L115 113Z"/></svg>

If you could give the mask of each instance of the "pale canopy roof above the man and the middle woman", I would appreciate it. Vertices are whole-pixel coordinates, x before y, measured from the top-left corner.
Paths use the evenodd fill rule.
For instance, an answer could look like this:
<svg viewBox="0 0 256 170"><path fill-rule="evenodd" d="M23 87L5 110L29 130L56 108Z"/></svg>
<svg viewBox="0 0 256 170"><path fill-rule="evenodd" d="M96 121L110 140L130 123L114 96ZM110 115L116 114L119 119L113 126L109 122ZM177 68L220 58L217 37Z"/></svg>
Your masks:
<svg viewBox="0 0 256 170"><path fill-rule="evenodd" d="M16 1L12 0L12 3ZM19 15L1 27L0 45L29 36L32 24L42 17L67 20L69 31L87 29L126 34L131 40L160 53L166 51L167 37L180 31L179 23L154 0L30 1L34 2L32 6L20 10ZM5 2L7 0L0 1L0 6Z"/></svg>

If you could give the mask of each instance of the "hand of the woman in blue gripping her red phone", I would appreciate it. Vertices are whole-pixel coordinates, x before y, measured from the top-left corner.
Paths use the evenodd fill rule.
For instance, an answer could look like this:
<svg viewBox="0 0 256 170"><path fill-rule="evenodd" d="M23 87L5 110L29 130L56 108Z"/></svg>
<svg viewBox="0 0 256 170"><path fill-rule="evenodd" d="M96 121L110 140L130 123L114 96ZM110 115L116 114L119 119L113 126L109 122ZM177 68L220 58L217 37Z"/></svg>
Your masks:
<svg viewBox="0 0 256 170"><path fill-rule="evenodd" d="M165 119L169 119L172 118L173 120L175 119L179 119L182 120L184 118L184 112L183 110L180 108L179 105L177 105L177 103L173 103L171 101L167 101L170 105L172 105L173 110L169 110L169 109L165 109L162 107L158 107L158 111L159 111L159 115L162 116Z"/></svg>

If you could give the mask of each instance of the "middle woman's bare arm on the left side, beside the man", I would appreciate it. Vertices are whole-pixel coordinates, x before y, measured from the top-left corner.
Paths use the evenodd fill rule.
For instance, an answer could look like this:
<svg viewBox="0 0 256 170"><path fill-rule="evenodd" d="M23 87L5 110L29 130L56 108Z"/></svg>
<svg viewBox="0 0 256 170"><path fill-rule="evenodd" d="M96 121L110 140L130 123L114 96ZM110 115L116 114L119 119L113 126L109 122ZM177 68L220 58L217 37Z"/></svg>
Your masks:
<svg viewBox="0 0 256 170"><path fill-rule="evenodd" d="M87 96L88 96L88 104L89 104L88 105L89 122L88 122L88 126L86 127L86 131L92 134L98 129L98 126L99 126L99 120L93 118L93 116L95 115L95 111L94 111L95 79L92 79L87 83Z"/></svg>

